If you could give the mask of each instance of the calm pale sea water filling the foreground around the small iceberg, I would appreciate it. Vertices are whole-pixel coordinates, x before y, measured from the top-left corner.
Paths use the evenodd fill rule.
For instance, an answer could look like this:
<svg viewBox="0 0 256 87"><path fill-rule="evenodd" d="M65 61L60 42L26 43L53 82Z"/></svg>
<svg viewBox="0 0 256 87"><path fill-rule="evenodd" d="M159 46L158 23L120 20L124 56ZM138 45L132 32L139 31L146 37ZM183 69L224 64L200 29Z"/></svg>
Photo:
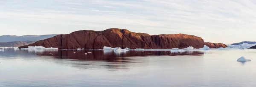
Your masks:
<svg viewBox="0 0 256 87"><path fill-rule="evenodd" d="M182 54L7 49L0 51L0 87L255 87L255 55L254 49ZM237 62L241 56L252 61Z"/></svg>

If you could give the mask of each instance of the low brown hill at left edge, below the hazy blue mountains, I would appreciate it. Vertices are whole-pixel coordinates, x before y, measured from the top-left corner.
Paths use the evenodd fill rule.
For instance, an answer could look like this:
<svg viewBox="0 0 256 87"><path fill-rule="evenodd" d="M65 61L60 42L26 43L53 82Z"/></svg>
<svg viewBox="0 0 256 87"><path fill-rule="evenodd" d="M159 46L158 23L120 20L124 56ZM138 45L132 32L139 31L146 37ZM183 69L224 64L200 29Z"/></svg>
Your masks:
<svg viewBox="0 0 256 87"><path fill-rule="evenodd" d="M0 47L19 47L33 44L35 41L14 41L14 42L0 42Z"/></svg>

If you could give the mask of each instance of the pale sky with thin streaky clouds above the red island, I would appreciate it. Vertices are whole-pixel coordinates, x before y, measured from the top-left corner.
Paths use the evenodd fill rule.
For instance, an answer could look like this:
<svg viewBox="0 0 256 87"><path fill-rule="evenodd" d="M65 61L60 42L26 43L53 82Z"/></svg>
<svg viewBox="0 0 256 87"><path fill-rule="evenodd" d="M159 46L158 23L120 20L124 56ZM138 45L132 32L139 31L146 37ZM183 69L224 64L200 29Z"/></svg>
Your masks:
<svg viewBox="0 0 256 87"><path fill-rule="evenodd" d="M109 28L224 44L256 41L256 0L0 0L0 35Z"/></svg>

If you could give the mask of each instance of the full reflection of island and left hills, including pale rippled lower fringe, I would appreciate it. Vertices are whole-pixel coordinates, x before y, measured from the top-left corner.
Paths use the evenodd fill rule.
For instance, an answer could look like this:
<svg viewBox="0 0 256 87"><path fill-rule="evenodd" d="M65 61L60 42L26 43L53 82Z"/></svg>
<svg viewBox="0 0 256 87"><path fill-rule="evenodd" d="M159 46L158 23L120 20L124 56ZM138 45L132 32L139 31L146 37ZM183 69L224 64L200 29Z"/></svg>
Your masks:
<svg viewBox="0 0 256 87"><path fill-rule="evenodd" d="M86 53L86 54L85 54ZM148 58L140 60L137 56L177 56L204 55L204 52L186 51L171 53L170 51L128 51L114 52L113 50L11 50L8 49L0 56L25 56L26 58L54 58L56 64L65 64L80 69L104 68L107 70L128 69L130 64L148 62ZM62 60L65 59L65 60Z"/></svg>

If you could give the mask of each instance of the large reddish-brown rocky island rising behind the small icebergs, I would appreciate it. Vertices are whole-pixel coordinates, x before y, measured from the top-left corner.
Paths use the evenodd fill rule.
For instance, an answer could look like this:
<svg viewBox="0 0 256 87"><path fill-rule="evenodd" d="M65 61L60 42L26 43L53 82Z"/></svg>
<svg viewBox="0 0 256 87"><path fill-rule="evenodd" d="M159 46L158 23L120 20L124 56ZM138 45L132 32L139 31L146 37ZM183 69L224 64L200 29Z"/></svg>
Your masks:
<svg viewBox="0 0 256 87"><path fill-rule="evenodd" d="M148 35L130 32L127 29L106 29L104 31L83 30L67 35L56 35L19 48L44 46L59 49L103 49L104 46L109 46L131 49L181 49L188 46L202 48L204 44L202 38L194 35Z"/></svg>

